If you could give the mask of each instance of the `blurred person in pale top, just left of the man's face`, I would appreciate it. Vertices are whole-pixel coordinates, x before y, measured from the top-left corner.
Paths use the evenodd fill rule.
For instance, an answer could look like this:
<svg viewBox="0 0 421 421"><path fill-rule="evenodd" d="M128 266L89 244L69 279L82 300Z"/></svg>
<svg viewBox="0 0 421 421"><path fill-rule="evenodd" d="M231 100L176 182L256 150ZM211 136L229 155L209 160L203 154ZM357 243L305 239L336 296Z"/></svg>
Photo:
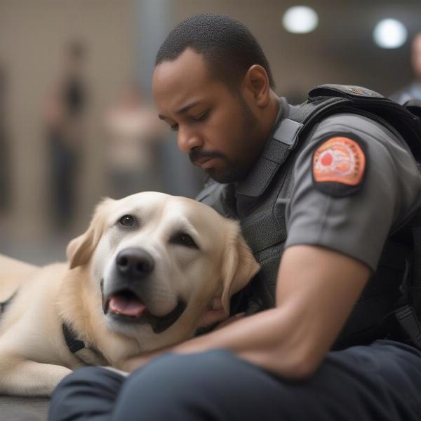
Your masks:
<svg viewBox="0 0 421 421"><path fill-rule="evenodd" d="M159 147L165 127L128 83L105 119L107 193L114 199L144 190L161 190Z"/></svg>

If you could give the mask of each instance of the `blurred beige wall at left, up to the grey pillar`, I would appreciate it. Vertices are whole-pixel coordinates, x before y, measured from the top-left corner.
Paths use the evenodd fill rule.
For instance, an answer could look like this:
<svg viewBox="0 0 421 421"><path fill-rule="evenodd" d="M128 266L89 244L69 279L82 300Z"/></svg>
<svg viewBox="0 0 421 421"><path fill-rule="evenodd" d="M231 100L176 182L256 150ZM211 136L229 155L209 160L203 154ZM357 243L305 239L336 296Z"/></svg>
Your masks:
<svg viewBox="0 0 421 421"><path fill-rule="evenodd" d="M12 206L0 223L1 253L19 255L28 244L23 257L43 260L42 250L33 246L56 241L48 230L48 151L42 114L69 39L80 39L88 49L88 118L75 230L86 225L103 188L103 112L123 82L133 76L131 8L126 0L0 1L0 62L7 77L13 183ZM48 234L51 239L46 239ZM53 259L64 257L62 241L58 243L60 251L53 247Z"/></svg>

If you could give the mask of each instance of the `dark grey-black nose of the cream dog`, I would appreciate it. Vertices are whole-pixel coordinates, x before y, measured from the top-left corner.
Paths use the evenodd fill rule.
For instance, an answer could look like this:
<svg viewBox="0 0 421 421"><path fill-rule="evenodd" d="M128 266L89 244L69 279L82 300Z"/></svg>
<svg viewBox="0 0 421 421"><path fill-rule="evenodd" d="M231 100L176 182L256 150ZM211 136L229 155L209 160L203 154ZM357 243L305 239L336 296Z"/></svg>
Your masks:
<svg viewBox="0 0 421 421"><path fill-rule="evenodd" d="M154 270L154 259L142 248L131 247L121 250L116 258L119 274L131 279L142 279Z"/></svg>

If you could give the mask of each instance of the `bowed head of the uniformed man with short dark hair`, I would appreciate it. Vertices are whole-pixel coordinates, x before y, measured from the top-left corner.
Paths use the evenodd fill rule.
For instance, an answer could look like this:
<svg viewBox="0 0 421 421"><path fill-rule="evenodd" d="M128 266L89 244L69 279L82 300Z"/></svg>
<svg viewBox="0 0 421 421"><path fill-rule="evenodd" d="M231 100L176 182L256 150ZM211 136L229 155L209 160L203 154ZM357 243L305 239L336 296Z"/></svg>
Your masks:
<svg viewBox="0 0 421 421"><path fill-rule="evenodd" d="M244 178L276 116L265 54L248 29L225 15L181 22L156 55L159 116L178 147L219 182Z"/></svg>

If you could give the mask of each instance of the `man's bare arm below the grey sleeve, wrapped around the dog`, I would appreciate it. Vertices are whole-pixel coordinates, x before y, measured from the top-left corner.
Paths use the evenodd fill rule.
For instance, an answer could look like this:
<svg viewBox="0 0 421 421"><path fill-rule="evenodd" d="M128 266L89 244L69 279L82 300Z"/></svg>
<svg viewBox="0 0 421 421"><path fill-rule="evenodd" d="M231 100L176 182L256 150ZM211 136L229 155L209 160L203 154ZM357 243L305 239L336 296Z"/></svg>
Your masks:
<svg viewBox="0 0 421 421"><path fill-rule="evenodd" d="M173 352L227 348L288 378L311 375L337 337L370 269L318 246L291 246L279 267L276 307L182 343ZM145 363L127 361L126 370Z"/></svg>

